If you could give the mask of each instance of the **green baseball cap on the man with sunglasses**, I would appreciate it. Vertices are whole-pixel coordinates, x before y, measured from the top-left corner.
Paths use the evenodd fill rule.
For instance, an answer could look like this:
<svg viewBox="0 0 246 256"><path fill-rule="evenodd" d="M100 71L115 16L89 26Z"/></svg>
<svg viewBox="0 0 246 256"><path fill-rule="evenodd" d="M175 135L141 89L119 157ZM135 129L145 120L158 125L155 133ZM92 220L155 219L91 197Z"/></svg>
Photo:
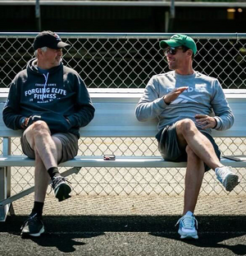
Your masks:
<svg viewBox="0 0 246 256"><path fill-rule="evenodd" d="M172 35L170 40L162 40L160 42L162 49L165 49L168 46L178 47L181 45L185 45L187 48L192 49L194 54L196 54L198 51L196 43L188 35L176 34Z"/></svg>

